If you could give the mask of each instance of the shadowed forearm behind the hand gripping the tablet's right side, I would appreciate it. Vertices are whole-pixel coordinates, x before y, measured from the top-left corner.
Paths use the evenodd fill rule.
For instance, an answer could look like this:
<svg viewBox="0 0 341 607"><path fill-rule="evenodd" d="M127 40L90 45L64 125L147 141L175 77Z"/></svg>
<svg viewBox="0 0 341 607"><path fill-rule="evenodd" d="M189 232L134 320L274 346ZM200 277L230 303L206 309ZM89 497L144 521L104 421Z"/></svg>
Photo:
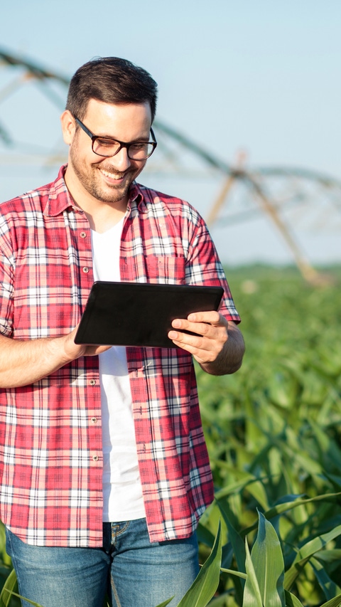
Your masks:
<svg viewBox="0 0 341 607"><path fill-rule="evenodd" d="M242 365L245 344L242 333L234 322L228 322L227 341L214 361L200 363L201 368L211 375L227 375L238 371Z"/></svg>

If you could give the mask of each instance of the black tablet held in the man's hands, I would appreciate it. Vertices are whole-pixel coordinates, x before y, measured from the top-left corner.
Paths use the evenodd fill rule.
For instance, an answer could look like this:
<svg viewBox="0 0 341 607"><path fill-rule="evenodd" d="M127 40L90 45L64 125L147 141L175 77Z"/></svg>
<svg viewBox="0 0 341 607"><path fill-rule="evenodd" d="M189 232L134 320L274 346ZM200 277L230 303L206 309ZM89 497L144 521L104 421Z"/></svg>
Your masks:
<svg viewBox="0 0 341 607"><path fill-rule="evenodd" d="M92 285L76 344L175 348L172 320L218 310L222 287L114 283Z"/></svg>

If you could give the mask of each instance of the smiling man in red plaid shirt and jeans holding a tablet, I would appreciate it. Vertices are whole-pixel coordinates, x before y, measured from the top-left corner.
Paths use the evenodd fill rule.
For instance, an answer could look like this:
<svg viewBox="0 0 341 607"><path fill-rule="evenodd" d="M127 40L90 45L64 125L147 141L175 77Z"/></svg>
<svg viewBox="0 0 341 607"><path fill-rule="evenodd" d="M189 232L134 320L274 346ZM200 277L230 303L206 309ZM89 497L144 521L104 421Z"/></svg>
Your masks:
<svg viewBox="0 0 341 607"><path fill-rule="evenodd" d="M198 571L212 477L193 358L233 373L244 342L202 218L136 184L155 110L145 70L86 63L61 117L67 167L0 208L0 517L19 591L43 607L106 591L175 606ZM222 285L224 301L174 320L170 349L77 345L94 280Z"/></svg>

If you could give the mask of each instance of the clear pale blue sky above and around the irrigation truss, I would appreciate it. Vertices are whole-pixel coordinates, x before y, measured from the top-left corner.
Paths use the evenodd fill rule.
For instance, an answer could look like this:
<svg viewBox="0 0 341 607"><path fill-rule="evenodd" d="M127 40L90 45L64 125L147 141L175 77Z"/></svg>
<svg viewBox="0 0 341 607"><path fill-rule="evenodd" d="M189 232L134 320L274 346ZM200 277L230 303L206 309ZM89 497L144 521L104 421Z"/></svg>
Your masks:
<svg viewBox="0 0 341 607"><path fill-rule="evenodd" d="M0 19L0 47L66 75L94 56L142 65L159 85L159 119L227 162L244 149L254 167L341 179L340 0L18 0ZM9 195L39 185L23 177ZM205 215L200 192L179 187L168 183ZM212 233L224 261L291 257L269 222ZM341 258L330 234L305 248Z"/></svg>

